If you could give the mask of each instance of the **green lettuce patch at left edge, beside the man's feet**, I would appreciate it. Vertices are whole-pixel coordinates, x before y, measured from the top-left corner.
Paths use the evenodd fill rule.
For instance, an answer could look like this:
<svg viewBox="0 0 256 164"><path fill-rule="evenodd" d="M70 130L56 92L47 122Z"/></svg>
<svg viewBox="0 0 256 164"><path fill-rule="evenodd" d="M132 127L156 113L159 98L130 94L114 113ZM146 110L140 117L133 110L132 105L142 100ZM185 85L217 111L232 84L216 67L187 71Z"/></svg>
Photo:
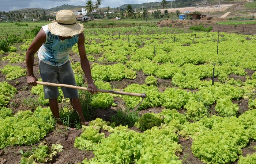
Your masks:
<svg viewBox="0 0 256 164"><path fill-rule="evenodd" d="M34 114L20 110L15 117L0 118L0 148L8 145L31 145L53 130L50 108L39 106Z"/></svg>

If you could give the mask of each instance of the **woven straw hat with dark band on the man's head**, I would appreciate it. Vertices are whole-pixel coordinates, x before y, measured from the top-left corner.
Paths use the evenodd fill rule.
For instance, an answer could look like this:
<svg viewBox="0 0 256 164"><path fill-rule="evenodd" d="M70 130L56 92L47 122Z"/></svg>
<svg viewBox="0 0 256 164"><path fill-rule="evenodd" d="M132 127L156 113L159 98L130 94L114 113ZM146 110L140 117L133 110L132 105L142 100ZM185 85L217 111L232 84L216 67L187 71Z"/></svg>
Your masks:
<svg viewBox="0 0 256 164"><path fill-rule="evenodd" d="M71 10L60 10L56 15L57 22L48 24L49 31L59 36L74 36L83 32L82 24L76 23L76 16Z"/></svg>

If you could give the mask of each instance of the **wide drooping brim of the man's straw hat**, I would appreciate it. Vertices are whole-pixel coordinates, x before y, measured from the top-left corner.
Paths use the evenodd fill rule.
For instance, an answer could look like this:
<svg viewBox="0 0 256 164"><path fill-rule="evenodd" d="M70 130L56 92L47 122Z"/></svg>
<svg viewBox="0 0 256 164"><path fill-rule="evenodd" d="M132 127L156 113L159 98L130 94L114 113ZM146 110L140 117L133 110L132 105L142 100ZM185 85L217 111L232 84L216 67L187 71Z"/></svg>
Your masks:
<svg viewBox="0 0 256 164"><path fill-rule="evenodd" d="M83 32L84 27L80 23L72 25L61 25L58 22L48 24L48 29L53 35L74 36Z"/></svg>

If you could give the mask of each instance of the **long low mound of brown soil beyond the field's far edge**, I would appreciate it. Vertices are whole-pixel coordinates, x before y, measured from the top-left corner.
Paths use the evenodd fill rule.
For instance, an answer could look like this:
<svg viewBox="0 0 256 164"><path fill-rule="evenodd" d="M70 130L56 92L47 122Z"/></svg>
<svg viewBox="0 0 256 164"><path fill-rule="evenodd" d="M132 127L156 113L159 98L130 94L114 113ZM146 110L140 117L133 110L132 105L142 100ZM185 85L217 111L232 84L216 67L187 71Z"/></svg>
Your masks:
<svg viewBox="0 0 256 164"><path fill-rule="evenodd" d="M199 24L216 24L215 22L212 22L210 20L170 20L165 19L157 23L158 27L170 27L170 24L172 26L193 26L193 25L199 25Z"/></svg>

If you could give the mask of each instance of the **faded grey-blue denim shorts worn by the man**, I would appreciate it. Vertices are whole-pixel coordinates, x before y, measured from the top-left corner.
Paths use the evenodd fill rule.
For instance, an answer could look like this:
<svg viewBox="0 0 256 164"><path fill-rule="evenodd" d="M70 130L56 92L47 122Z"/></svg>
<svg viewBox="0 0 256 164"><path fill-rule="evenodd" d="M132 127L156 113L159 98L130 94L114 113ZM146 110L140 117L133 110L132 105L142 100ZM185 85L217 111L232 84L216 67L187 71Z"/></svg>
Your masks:
<svg viewBox="0 0 256 164"><path fill-rule="evenodd" d="M60 84L68 84L76 86L75 76L70 64L70 61L65 63L62 66L51 66L44 62L39 63L40 75L43 82L50 83L60 83ZM65 98L78 98L78 90L61 87ZM59 89L54 86L44 85L44 98L45 99L54 99L59 97Z"/></svg>

